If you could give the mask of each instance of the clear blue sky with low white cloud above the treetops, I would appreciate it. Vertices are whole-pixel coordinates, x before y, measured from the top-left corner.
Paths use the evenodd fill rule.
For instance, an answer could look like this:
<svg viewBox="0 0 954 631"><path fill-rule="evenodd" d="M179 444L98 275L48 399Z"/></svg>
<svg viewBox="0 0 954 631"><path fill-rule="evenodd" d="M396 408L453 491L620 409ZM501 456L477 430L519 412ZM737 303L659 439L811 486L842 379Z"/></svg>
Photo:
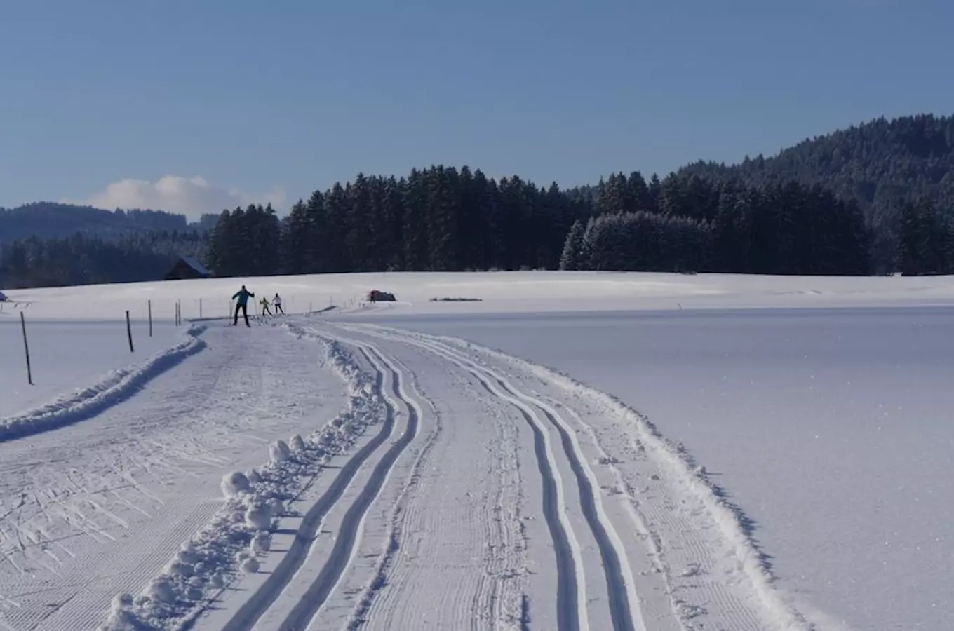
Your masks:
<svg viewBox="0 0 954 631"><path fill-rule="evenodd" d="M734 162L951 113L952 24L948 0L8 3L0 206L285 210L435 163L566 187Z"/></svg>

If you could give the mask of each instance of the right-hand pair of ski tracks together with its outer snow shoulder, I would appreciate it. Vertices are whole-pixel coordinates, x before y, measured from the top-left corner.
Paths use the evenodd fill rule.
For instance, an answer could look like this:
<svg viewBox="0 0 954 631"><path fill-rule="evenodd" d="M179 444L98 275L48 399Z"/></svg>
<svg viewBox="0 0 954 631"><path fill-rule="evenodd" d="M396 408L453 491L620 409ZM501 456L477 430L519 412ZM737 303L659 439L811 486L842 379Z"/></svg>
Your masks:
<svg viewBox="0 0 954 631"><path fill-rule="evenodd" d="M570 616L573 600L568 605L561 592L557 628L586 628L588 618L591 628L614 631L814 628L775 588L737 510L681 446L660 437L633 410L569 377L463 340L374 325L339 326L412 345L466 370L487 394L516 407L543 440L548 448L538 450L538 464L545 478L545 516L551 508L548 484L565 484L578 493L572 502L569 493L563 494L570 519L565 514L558 523L548 519L556 567L561 575L572 572L579 590L578 620ZM550 448L554 443L562 452ZM568 472L563 482L562 472ZM561 529L554 526L562 526L570 547L574 539L594 541L603 585L591 578L590 565L578 561L578 550L570 567L560 560ZM563 589L569 582L562 581ZM584 588L590 592L587 600L580 598ZM531 608L536 596L529 594ZM604 607L608 618L600 618Z"/></svg>

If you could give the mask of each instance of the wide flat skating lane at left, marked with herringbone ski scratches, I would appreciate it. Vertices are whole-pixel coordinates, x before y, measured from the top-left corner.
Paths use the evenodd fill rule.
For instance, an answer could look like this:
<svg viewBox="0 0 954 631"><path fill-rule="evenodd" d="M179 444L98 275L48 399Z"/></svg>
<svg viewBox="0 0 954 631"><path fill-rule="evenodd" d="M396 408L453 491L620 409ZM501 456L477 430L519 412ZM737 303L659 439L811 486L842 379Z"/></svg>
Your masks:
<svg viewBox="0 0 954 631"><path fill-rule="evenodd" d="M202 353L83 422L0 443L0 621L95 628L217 512L223 473L341 408L315 349L231 333L210 326Z"/></svg>

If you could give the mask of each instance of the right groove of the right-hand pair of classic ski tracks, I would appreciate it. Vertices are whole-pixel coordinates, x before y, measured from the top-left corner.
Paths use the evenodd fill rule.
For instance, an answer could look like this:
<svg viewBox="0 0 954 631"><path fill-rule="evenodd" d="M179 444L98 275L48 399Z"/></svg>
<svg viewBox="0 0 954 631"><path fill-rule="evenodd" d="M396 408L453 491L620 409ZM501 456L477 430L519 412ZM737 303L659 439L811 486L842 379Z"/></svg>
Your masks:
<svg viewBox="0 0 954 631"><path fill-rule="evenodd" d="M613 629L614 631L646 631L646 622L643 620L639 600L635 593L633 570L630 567L622 539L613 527L611 520L606 516L602 498L596 491L599 488L599 483L593 476L586 457L583 456L578 439L571 432L566 421L541 399L523 393L513 386L506 377L486 366L476 364L456 349L429 340L409 341L402 339L402 341L424 348L435 355L444 356L449 361L470 372L478 371L495 380L506 393L537 407L547 417L550 424L556 428L560 435L564 453L577 480L581 512L590 526L600 551L603 571L606 575Z"/></svg>

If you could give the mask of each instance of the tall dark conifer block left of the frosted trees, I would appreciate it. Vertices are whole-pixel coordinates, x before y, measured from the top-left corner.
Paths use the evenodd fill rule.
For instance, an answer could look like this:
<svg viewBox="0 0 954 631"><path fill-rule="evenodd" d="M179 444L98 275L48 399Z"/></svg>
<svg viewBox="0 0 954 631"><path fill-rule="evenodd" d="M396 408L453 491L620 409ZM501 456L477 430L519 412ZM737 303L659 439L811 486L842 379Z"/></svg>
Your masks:
<svg viewBox="0 0 954 631"><path fill-rule="evenodd" d="M360 173L300 199L282 221L269 209L223 212L208 263L217 275L555 269L588 212L555 184L497 182L467 167Z"/></svg>

